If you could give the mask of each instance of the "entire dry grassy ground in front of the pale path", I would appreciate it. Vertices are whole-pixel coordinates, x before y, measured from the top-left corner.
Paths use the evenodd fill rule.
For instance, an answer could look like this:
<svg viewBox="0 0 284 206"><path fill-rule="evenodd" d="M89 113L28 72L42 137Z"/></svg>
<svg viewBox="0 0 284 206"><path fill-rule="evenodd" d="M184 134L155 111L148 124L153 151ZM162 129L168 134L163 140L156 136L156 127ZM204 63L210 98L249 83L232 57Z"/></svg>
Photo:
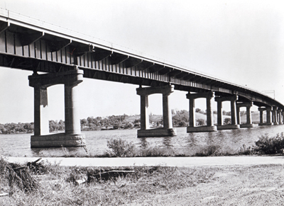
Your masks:
<svg viewBox="0 0 284 206"><path fill-rule="evenodd" d="M75 185L88 174L134 170ZM1 173L0 205L284 205L282 165L174 168L80 168L48 165L37 190L9 188Z"/></svg>

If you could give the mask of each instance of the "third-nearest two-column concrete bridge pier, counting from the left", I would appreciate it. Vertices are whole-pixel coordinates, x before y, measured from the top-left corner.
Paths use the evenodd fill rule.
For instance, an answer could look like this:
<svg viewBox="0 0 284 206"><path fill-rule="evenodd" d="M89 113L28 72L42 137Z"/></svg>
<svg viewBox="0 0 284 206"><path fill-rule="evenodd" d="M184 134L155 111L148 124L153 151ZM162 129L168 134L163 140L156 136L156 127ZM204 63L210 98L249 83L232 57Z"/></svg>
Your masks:
<svg viewBox="0 0 284 206"><path fill-rule="evenodd" d="M190 100L190 125L187 127L187 132L216 132L217 126L214 126L212 101L214 101L214 92L207 93L187 93L187 98ZM195 125L195 99L206 98L207 105L207 125Z"/></svg>

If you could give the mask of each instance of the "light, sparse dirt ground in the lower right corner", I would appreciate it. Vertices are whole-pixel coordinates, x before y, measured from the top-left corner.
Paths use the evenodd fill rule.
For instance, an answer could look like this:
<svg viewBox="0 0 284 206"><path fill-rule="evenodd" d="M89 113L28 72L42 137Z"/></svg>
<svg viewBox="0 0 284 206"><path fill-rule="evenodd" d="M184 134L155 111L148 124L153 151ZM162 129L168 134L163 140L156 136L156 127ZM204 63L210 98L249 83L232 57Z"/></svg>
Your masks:
<svg viewBox="0 0 284 206"><path fill-rule="evenodd" d="M207 183L149 195L130 205L284 205L282 165L212 166Z"/></svg>

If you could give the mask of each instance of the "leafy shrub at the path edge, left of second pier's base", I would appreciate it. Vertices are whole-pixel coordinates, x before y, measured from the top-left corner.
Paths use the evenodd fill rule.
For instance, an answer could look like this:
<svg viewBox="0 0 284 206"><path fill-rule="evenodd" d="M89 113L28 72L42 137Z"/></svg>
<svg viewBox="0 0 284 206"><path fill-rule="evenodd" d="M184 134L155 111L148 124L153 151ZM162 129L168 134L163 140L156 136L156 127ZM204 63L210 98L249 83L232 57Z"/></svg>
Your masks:
<svg viewBox="0 0 284 206"><path fill-rule="evenodd" d="M112 150L115 156L134 156L135 146L131 142L126 142L126 140L110 139L107 141L107 147Z"/></svg>

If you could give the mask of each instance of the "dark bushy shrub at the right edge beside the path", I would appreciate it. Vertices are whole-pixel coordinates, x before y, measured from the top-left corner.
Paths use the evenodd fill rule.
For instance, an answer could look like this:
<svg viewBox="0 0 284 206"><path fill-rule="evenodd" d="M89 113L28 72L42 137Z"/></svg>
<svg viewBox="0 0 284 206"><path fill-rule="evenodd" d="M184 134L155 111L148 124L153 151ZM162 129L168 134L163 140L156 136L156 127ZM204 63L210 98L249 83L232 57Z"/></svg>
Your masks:
<svg viewBox="0 0 284 206"><path fill-rule="evenodd" d="M275 137L268 137L268 134L261 135L256 141L254 150L260 154L283 154L284 133L278 133Z"/></svg>

